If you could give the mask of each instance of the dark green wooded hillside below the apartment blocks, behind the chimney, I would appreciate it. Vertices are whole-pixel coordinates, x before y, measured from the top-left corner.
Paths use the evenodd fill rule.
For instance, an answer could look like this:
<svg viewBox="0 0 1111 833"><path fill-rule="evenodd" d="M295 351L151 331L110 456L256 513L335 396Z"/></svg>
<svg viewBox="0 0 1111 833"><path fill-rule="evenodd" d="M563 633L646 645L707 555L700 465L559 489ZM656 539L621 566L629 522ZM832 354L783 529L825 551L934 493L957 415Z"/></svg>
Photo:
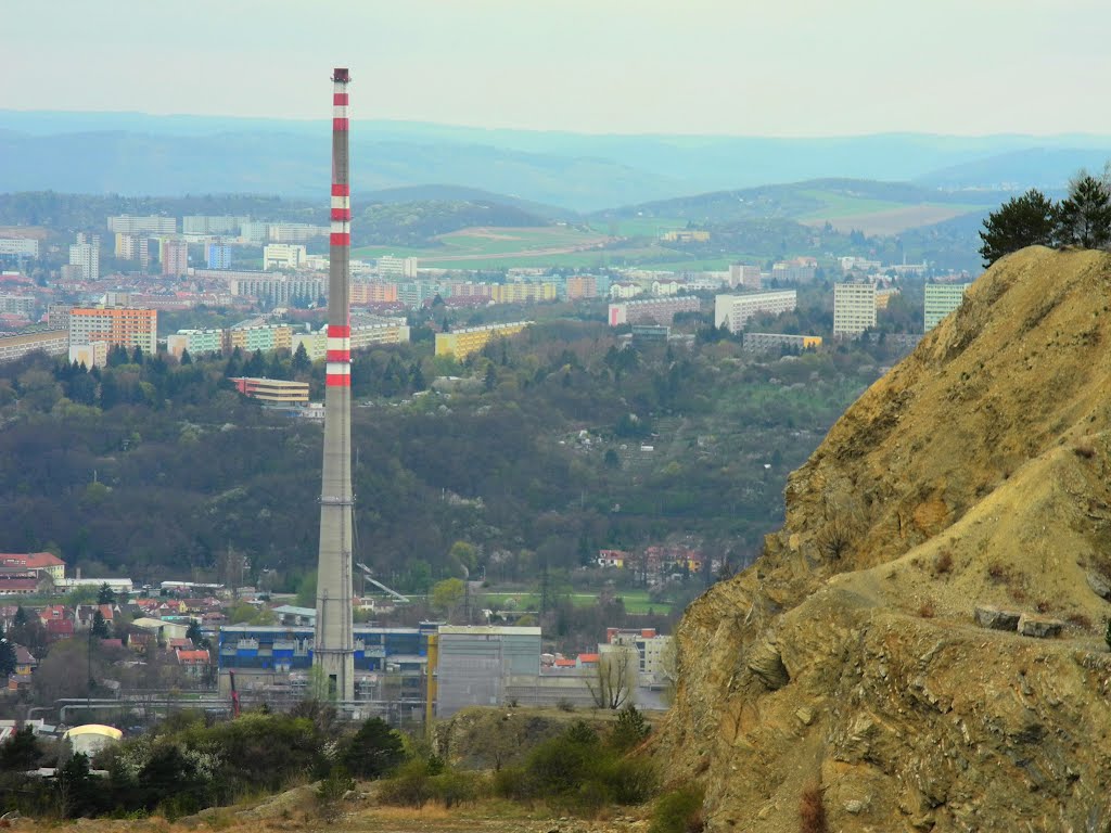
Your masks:
<svg viewBox="0 0 1111 833"><path fill-rule="evenodd" d="M88 573L214 574L228 548L293 589L314 564L319 423L241 400L227 375L309 378L286 358L86 373L0 367L0 549L59 549ZM424 389L471 377L462 390ZM501 578L689 533L735 566L781 521L788 471L874 378L859 353L765 362L731 340L615 348L553 322L466 365L428 342L356 358L358 558L400 585L458 574L458 540ZM585 431L585 434L580 432Z"/></svg>

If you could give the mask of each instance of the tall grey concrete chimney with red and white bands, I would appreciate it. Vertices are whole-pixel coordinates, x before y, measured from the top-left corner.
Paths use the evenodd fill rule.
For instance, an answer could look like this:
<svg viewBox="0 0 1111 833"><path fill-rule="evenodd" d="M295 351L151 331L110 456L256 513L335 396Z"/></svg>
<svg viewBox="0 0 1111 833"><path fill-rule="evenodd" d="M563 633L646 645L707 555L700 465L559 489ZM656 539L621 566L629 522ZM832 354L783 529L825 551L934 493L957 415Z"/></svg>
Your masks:
<svg viewBox="0 0 1111 833"><path fill-rule="evenodd" d="M317 566L317 641L313 665L332 700L354 700L351 624L351 185L348 167L347 69L332 74L332 231L328 277L328 365L324 390L324 463Z"/></svg>

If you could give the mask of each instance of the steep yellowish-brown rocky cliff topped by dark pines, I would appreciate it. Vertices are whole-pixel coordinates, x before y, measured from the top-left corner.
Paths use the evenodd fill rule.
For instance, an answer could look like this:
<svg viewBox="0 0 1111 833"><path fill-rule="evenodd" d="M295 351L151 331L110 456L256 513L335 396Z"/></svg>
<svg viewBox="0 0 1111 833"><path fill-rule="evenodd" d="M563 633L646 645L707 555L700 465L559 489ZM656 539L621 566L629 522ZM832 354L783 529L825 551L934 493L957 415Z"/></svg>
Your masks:
<svg viewBox="0 0 1111 833"><path fill-rule="evenodd" d="M832 831L1111 830L1109 454L1111 257L1005 258L684 616L660 752L709 829L817 786Z"/></svg>

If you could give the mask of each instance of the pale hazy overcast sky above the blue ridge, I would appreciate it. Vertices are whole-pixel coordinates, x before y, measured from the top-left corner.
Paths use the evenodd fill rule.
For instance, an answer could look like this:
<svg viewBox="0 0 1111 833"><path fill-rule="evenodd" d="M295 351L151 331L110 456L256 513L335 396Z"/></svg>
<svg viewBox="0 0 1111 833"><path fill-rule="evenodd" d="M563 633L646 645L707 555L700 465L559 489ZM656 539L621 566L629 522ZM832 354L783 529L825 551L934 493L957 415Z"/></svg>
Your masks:
<svg viewBox="0 0 1111 833"><path fill-rule="evenodd" d="M1111 133L1108 0L11 0L0 109Z"/></svg>

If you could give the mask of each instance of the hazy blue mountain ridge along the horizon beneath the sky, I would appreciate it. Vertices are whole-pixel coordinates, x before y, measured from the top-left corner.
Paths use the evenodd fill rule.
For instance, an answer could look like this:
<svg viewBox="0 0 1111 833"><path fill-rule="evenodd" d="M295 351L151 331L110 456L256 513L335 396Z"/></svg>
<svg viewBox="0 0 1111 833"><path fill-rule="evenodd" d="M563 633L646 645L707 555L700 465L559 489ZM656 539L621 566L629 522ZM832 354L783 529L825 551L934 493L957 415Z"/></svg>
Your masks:
<svg viewBox="0 0 1111 833"><path fill-rule="evenodd" d="M0 110L0 191L314 197L327 133L327 119ZM359 120L351 142L364 193L436 182L575 211L830 177L1060 188L1111 157L1111 138L1093 136L589 136Z"/></svg>

